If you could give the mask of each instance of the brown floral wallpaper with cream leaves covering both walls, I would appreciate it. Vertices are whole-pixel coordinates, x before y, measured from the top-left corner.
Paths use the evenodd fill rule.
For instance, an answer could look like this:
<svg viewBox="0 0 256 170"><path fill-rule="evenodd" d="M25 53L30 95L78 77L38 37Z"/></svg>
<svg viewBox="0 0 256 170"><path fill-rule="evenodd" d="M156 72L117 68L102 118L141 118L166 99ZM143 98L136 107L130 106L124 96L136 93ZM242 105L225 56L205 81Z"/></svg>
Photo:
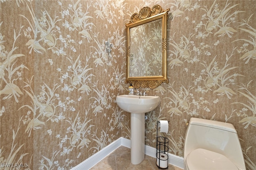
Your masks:
<svg viewBox="0 0 256 170"><path fill-rule="evenodd" d="M256 169L255 0L0 0L1 170L71 169L129 139L130 114L115 103L128 93L124 24L155 4L172 13L169 83L140 89L161 98L145 144L168 120L169 152L183 156L190 117L228 122Z"/></svg>

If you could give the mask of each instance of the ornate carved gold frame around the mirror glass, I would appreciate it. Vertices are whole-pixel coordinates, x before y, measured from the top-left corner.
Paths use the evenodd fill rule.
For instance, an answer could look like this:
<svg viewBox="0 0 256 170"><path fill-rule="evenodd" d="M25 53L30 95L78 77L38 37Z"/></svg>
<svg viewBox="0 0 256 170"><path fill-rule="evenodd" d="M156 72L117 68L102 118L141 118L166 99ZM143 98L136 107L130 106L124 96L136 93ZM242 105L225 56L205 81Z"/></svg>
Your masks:
<svg viewBox="0 0 256 170"><path fill-rule="evenodd" d="M135 88L151 88L155 89L162 83L168 83L167 79L167 20L168 12L163 10L161 6L155 5L150 9L144 7L139 13L132 14L130 22L125 24L127 32L127 47L126 47L126 58L127 58L127 72L126 72L126 83L132 83ZM162 18L162 75L159 76L146 76L146 77L130 77L130 28L147 24L149 22Z"/></svg>

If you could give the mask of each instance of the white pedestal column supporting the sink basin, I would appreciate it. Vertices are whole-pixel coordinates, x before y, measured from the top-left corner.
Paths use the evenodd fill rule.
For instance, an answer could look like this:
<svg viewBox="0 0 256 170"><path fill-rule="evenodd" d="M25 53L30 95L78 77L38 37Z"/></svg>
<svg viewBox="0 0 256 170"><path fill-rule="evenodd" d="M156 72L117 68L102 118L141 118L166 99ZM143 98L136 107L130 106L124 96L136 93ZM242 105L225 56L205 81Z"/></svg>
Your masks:
<svg viewBox="0 0 256 170"><path fill-rule="evenodd" d="M145 113L131 113L131 163L136 165L145 158Z"/></svg>

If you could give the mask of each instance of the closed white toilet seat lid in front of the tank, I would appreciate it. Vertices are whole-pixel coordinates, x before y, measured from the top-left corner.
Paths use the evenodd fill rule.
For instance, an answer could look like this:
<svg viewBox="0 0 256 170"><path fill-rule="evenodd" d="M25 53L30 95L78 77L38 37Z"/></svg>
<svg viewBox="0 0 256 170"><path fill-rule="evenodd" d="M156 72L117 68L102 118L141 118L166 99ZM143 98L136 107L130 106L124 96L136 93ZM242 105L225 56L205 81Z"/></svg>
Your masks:
<svg viewBox="0 0 256 170"><path fill-rule="evenodd" d="M188 154L186 168L188 170L238 170L226 156L202 148Z"/></svg>

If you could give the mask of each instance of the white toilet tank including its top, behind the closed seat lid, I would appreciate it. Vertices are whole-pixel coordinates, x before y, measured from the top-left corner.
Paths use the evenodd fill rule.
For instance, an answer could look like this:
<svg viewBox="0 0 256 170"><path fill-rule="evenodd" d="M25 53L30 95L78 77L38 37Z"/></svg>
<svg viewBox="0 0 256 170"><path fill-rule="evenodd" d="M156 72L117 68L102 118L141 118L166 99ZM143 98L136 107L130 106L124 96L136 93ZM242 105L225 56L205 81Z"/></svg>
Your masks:
<svg viewBox="0 0 256 170"><path fill-rule="evenodd" d="M220 153L240 169L245 169L244 156L234 126L230 123L191 118L186 130L184 160L197 148Z"/></svg>

